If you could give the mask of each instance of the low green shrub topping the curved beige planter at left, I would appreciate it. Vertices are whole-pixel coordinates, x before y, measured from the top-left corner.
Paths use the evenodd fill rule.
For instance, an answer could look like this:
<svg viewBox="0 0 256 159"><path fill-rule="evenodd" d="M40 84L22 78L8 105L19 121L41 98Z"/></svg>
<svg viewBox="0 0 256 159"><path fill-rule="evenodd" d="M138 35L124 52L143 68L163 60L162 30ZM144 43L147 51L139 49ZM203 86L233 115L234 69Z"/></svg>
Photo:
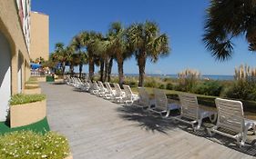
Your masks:
<svg viewBox="0 0 256 159"><path fill-rule="evenodd" d="M11 97L9 103L15 104L29 104L34 102L43 101L46 99L45 94L15 94Z"/></svg>

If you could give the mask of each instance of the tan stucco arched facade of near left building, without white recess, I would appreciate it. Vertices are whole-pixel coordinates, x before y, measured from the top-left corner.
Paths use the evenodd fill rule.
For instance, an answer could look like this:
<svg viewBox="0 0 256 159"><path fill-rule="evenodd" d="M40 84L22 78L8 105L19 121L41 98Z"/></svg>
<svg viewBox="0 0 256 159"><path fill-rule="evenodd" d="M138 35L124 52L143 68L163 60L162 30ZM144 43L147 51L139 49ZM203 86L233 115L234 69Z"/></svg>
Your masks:
<svg viewBox="0 0 256 159"><path fill-rule="evenodd" d="M12 78L12 94L17 93L17 67L18 67L18 53L23 55L24 64L29 64L29 53L26 47L25 36L23 35L23 28L19 21L19 16L17 13L17 8L15 1L0 1L0 31L5 35L7 41L9 42L12 54L12 64L11 64L11 78ZM29 70L29 65L23 67ZM23 74L25 75L25 74ZM27 79L28 77L23 77ZM25 80L23 80L23 87L25 85Z"/></svg>

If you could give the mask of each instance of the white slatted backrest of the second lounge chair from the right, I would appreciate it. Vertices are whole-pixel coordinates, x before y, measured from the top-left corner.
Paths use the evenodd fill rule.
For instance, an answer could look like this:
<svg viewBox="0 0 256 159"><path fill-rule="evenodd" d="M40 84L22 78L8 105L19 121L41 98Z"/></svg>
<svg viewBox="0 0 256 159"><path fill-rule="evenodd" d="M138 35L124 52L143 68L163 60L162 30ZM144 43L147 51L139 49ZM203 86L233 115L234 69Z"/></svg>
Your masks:
<svg viewBox="0 0 256 159"><path fill-rule="evenodd" d="M192 120L199 120L200 107L195 94L179 94L181 115Z"/></svg>

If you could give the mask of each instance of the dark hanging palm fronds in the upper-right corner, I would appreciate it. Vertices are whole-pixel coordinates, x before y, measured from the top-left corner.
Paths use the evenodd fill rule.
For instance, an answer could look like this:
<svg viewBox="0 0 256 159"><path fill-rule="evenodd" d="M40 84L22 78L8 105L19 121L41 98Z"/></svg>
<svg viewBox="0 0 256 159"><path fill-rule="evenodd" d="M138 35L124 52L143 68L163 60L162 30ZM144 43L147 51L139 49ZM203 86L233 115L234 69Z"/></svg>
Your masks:
<svg viewBox="0 0 256 159"><path fill-rule="evenodd" d="M211 55L223 61L231 57L233 37L245 35L249 50L256 51L256 2L211 0L207 9L203 42Z"/></svg>

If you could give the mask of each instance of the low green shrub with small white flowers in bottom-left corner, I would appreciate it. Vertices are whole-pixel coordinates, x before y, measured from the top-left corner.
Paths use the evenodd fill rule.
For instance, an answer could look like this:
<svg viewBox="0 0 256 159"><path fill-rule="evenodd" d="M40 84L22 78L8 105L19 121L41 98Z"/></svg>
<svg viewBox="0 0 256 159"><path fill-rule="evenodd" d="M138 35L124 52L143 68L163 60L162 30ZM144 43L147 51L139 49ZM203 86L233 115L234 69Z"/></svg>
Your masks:
<svg viewBox="0 0 256 159"><path fill-rule="evenodd" d="M63 159L70 154L67 138L55 132L21 131L0 137L0 158Z"/></svg>

